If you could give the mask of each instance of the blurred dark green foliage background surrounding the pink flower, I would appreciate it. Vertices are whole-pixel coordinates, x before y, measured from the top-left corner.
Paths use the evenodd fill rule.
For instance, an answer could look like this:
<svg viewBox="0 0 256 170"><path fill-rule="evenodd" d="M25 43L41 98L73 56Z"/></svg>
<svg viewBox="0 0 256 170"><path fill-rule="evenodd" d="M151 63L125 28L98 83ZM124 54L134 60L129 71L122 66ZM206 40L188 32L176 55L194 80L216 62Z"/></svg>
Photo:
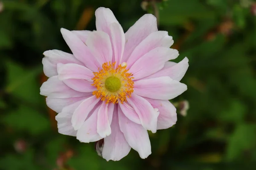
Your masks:
<svg viewBox="0 0 256 170"><path fill-rule="evenodd" d="M95 30L100 6L111 8L124 31L155 14L159 30L175 40L176 62L189 58L181 80L188 90L172 100L177 124L150 134L147 159L131 150L107 162L93 143L59 134L56 113L39 94L47 79L43 52L70 52L60 28ZM0 170L256 169L253 0L0 0L0 74Z"/></svg>

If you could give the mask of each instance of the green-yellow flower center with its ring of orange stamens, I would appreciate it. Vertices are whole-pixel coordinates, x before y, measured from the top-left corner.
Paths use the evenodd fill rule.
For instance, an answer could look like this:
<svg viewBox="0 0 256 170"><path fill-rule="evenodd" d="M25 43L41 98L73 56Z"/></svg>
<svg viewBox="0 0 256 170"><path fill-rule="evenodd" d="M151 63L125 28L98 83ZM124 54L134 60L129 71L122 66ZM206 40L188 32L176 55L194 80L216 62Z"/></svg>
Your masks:
<svg viewBox="0 0 256 170"><path fill-rule="evenodd" d="M133 93L134 82L133 74L128 73L126 63L118 65L115 68L116 62L105 62L102 64L102 69L99 72L94 72L93 86L97 88L93 91L93 95L101 98L106 103L117 103L118 99L121 103L126 102L126 97L130 97Z"/></svg>

